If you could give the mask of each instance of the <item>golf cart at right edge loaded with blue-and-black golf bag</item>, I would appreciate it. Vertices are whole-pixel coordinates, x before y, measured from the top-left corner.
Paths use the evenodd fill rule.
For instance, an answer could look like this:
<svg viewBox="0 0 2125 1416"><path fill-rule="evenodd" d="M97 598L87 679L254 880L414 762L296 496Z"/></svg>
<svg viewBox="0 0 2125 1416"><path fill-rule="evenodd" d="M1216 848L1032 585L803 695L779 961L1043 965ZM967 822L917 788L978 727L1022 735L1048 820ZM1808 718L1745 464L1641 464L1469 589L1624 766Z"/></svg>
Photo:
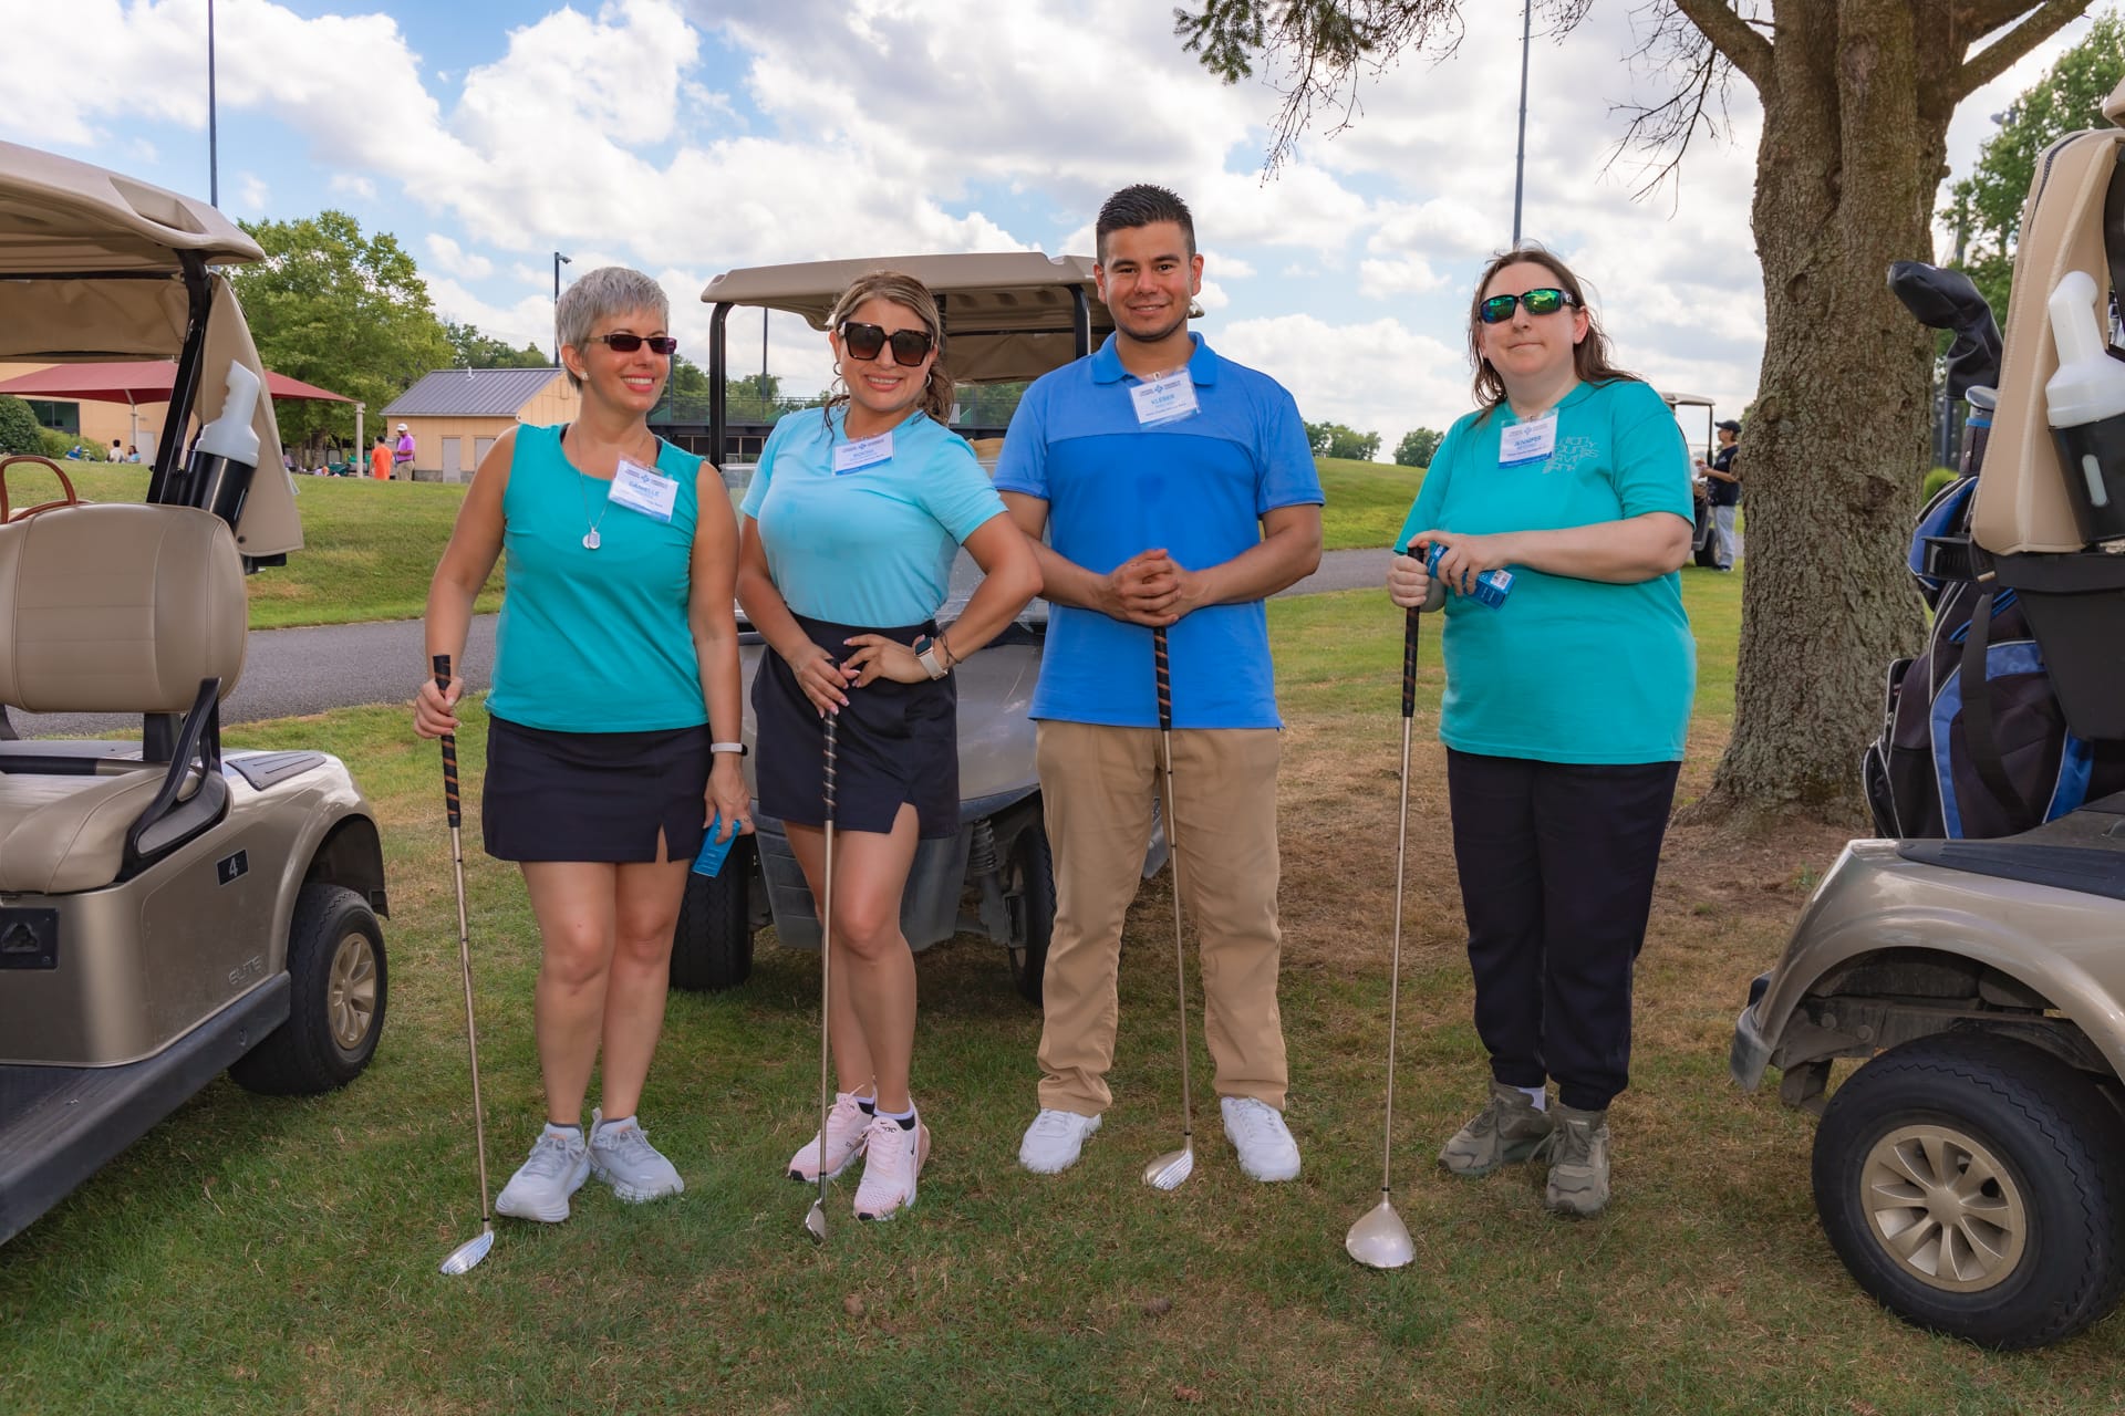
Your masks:
<svg viewBox="0 0 2125 1416"><path fill-rule="evenodd" d="M2104 113L2125 119L2125 85ZM2046 427L2046 301L2078 280L2089 299L2068 306L2093 346L2106 274L2125 284L2125 231L2106 253L2102 219L2106 193L2112 212L2125 204L2121 153L2125 132L2106 127L2038 163L2004 352L1966 278L1891 274L1923 323L1959 335L1951 395L1998 408L1989 446L1966 442L1970 471L1983 463L1961 484L1968 510L1930 533L1957 493L1942 490L1915 537L1912 573L1940 599L1927 658L1889 673L1889 724L1919 739L1885 728L1868 752L1883 839L1853 841L1823 877L1749 987L1730 1057L1749 1089L1781 1068L1779 1098L1821 1117L1815 1204L1862 1287L2000 1348L2068 1337L2125 1287L2125 792L2106 785L2125 741L2125 539L2089 533ZM2072 463L2095 482L2093 456ZM1980 735L1993 775L1976 766ZM1972 826L1993 781L2012 790L1987 809L2023 815ZM1832 1091L1838 1057L1862 1064Z"/></svg>

